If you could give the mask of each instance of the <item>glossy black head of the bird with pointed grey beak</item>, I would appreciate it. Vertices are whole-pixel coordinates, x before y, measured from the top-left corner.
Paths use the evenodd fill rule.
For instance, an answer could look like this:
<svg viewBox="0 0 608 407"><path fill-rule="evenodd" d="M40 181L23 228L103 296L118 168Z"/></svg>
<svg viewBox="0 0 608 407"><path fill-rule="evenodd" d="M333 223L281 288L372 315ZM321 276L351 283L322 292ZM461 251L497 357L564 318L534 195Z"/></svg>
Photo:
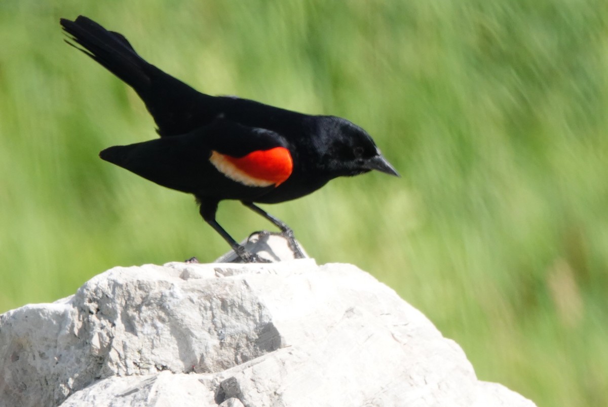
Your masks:
<svg viewBox="0 0 608 407"><path fill-rule="evenodd" d="M350 121L327 116L323 144L327 147L324 165L336 176L353 176L375 169L399 177L399 173L381 154L371 136Z"/></svg>

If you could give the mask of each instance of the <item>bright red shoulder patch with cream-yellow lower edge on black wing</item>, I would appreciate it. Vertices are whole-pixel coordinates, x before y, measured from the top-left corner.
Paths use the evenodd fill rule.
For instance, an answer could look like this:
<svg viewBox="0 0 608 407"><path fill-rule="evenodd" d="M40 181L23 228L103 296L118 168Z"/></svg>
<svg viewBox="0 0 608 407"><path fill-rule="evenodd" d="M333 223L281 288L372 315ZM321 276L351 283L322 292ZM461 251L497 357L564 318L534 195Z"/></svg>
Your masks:
<svg viewBox="0 0 608 407"><path fill-rule="evenodd" d="M294 161L285 147L257 150L240 158L212 151L209 161L226 177L250 186L279 186L294 168Z"/></svg>

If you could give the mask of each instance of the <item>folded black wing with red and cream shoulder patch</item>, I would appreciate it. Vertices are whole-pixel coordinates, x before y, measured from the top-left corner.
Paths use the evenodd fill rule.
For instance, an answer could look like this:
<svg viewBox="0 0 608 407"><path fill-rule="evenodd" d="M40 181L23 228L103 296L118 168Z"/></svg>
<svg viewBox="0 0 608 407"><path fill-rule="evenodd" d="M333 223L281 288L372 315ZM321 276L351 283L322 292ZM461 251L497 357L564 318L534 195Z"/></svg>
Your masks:
<svg viewBox="0 0 608 407"><path fill-rule="evenodd" d="M294 165L280 134L221 119L184 135L109 147L100 157L159 185L223 199L272 189Z"/></svg>

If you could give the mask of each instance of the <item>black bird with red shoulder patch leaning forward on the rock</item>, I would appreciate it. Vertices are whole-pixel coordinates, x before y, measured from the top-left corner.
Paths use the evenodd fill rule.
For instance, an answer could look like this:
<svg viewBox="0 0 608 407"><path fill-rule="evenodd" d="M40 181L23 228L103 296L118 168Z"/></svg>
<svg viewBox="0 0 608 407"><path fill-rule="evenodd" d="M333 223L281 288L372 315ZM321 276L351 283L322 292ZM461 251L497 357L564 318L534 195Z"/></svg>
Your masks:
<svg viewBox="0 0 608 407"><path fill-rule="evenodd" d="M61 26L84 49L69 44L139 94L161 136L109 147L100 157L159 185L193 194L202 218L244 261L260 259L215 221L220 200L240 200L277 225L297 247L291 229L254 202L299 198L336 177L372 169L398 175L370 135L346 119L209 96L150 65L123 35L85 16L62 18ZM296 256L302 257L301 252Z"/></svg>

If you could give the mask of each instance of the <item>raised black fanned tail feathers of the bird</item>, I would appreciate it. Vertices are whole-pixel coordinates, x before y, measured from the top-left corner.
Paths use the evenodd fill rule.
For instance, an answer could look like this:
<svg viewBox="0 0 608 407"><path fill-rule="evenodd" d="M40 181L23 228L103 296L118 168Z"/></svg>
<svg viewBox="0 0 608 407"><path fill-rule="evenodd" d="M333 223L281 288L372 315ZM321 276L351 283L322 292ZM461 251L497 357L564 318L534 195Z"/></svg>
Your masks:
<svg viewBox="0 0 608 407"><path fill-rule="evenodd" d="M108 71L128 83L137 93L150 87L152 65L137 55L129 41L117 32L108 31L92 19L78 16L74 21L61 18L61 26L72 40L82 46L78 48ZM66 41L70 45L74 45Z"/></svg>

